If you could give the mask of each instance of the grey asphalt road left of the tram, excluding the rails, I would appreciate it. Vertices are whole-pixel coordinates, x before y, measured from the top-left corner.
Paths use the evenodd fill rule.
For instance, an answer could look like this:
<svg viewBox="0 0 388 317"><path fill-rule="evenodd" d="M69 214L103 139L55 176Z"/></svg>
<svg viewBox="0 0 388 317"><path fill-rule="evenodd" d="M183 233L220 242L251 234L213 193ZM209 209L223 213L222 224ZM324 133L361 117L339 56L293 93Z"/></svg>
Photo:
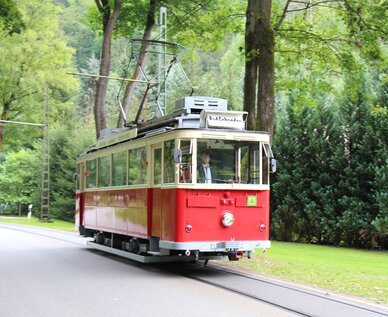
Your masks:
<svg viewBox="0 0 388 317"><path fill-rule="evenodd" d="M102 254L74 235L53 237L0 226L1 316L293 316L171 269Z"/></svg>

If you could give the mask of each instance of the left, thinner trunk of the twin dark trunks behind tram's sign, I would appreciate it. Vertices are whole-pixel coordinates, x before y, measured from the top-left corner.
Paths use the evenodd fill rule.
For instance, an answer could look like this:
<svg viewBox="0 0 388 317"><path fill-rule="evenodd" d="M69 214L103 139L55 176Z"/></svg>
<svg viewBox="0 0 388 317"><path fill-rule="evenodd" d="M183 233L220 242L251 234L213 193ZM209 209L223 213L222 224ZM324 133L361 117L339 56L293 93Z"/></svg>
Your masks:
<svg viewBox="0 0 388 317"><path fill-rule="evenodd" d="M255 129L256 122L258 4L258 0L248 0L245 24L244 110L248 112L247 128L249 130Z"/></svg>

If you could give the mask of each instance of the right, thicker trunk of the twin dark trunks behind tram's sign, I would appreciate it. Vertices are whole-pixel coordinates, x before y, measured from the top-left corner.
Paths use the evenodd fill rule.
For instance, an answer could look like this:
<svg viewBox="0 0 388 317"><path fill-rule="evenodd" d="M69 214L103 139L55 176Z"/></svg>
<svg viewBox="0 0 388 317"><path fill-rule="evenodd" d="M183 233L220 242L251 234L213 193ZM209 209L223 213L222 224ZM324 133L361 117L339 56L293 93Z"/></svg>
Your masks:
<svg viewBox="0 0 388 317"><path fill-rule="evenodd" d="M271 0L259 1L256 129L268 131L272 137L275 120L275 37L271 28L271 7Z"/></svg>

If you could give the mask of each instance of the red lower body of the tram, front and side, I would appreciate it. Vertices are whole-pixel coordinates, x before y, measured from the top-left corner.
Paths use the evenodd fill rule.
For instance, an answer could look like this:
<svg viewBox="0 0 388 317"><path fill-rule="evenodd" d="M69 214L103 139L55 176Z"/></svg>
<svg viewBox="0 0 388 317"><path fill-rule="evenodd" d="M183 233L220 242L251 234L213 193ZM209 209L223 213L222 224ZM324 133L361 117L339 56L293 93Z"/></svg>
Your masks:
<svg viewBox="0 0 388 317"><path fill-rule="evenodd" d="M269 239L269 190L126 189L77 194L80 201L81 195L79 219L89 229L173 242ZM222 224L226 212L234 216L230 227Z"/></svg>

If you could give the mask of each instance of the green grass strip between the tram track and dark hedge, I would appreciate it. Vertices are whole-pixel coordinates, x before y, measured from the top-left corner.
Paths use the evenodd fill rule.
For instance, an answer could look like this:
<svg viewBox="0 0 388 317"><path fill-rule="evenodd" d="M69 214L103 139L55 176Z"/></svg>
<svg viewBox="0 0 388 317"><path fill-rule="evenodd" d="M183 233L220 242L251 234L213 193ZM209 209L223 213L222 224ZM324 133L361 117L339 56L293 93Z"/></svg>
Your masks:
<svg viewBox="0 0 388 317"><path fill-rule="evenodd" d="M252 260L230 262L255 273L388 303L388 252L272 242Z"/></svg>

